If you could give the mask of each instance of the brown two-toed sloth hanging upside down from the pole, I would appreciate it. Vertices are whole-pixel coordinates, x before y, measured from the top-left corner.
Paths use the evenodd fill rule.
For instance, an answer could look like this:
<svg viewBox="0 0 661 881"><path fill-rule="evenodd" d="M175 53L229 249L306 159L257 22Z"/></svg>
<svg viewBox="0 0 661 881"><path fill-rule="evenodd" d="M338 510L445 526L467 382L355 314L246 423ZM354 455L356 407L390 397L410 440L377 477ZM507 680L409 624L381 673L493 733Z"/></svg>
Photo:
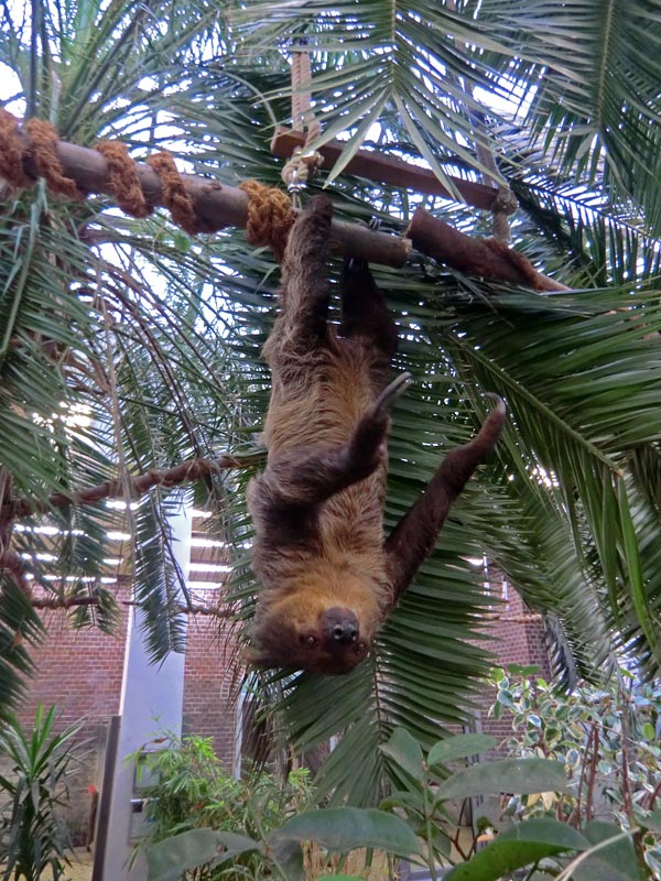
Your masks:
<svg viewBox="0 0 661 881"><path fill-rule="evenodd" d="M383 535L389 382L395 326L367 264L345 261L342 319L327 320L332 204L315 197L291 230L279 315L263 349L272 390L266 470L248 487L261 581L248 660L262 668L348 673L434 547L447 512L502 431L497 395L478 434L452 449Z"/></svg>

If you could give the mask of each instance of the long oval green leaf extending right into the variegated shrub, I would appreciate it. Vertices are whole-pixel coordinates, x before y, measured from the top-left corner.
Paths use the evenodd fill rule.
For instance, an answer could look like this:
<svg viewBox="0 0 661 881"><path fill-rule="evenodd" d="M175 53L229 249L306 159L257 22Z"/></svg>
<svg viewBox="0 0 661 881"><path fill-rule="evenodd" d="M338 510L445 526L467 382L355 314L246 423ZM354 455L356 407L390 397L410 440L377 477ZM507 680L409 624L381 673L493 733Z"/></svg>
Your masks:
<svg viewBox="0 0 661 881"><path fill-rule="evenodd" d="M570 792L562 762L549 759L503 759L479 762L443 781L438 798L468 798L494 793Z"/></svg>

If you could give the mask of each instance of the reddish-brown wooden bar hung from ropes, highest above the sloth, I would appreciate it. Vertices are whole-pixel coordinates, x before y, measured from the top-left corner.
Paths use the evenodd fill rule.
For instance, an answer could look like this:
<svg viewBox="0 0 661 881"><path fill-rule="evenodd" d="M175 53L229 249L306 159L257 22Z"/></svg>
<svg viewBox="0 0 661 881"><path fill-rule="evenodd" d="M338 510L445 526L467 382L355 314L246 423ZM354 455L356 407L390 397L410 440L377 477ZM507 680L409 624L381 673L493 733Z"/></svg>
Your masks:
<svg viewBox="0 0 661 881"><path fill-rule="evenodd" d="M271 152L280 159L290 159L294 150L305 145L305 134L292 129L278 128L271 141ZM328 141L317 149L323 156L323 168L332 168L346 144L342 141ZM346 174L355 174L357 177L367 177L369 181L379 181L382 184L414 189L416 193L425 193L430 196L442 196L445 199L456 202L456 196L443 186L431 168L421 168L419 165L411 165L395 156L386 156L380 153L372 153L368 150L359 150L356 155L347 163L344 168ZM465 181L463 177L447 175L457 193L463 197L466 205L474 208L490 210L498 191L492 186L478 184L473 181Z"/></svg>

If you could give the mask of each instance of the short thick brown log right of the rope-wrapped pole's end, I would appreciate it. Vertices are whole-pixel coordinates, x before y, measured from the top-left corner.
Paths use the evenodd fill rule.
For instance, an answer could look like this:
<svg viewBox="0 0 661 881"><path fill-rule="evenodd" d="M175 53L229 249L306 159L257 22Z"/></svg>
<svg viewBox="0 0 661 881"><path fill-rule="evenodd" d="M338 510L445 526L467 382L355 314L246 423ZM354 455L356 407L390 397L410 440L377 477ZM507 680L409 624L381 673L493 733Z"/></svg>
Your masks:
<svg viewBox="0 0 661 881"><path fill-rule="evenodd" d="M571 290L542 275L522 254L506 244L495 239L473 239L433 217L424 208L418 208L407 235L418 250L468 275L519 284L535 291Z"/></svg>

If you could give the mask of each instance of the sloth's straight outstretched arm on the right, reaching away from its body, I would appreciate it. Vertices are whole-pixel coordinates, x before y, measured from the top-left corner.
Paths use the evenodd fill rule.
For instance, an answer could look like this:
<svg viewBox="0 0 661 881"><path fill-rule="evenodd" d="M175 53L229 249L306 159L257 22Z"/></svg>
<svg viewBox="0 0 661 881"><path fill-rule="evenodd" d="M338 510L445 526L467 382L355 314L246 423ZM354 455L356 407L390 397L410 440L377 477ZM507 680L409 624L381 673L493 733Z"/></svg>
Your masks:
<svg viewBox="0 0 661 881"><path fill-rule="evenodd" d="M497 404L478 434L467 444L449 450L422 496L386 540L387 570L392 586L391 608L431 554L452 503L500 437L505 402L498 395L490 396Z"/></svg>

